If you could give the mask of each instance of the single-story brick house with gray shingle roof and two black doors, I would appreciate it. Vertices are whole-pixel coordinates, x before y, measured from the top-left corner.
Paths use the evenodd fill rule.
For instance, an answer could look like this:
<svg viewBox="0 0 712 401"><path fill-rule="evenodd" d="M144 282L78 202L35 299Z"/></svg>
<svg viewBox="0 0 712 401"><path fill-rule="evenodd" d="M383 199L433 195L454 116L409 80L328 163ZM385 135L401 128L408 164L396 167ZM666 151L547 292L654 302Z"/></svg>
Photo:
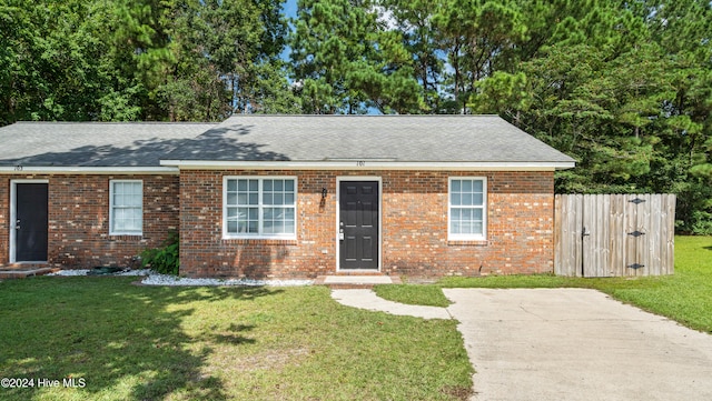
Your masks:
<svg viewBox="0 0 712 401"><path fill-rule="evenodd" d="M0 143L0 265L121 265L172 229L188 277L550 272L574 166L496 116L20 122Z"/></svg>

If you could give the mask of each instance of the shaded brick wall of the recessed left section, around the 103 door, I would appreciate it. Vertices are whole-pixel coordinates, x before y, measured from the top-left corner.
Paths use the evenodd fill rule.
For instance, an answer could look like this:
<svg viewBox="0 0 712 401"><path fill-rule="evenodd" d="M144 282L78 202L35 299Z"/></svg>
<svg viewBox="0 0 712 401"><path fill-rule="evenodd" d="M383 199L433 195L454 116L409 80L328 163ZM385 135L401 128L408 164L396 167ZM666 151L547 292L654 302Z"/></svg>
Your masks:
<svg viewBox="0 0 712 401"><path fill-rule="evenodd" d="M126 265L147 247L177 230L177 176L0 176L0 265L8 263L10 182L49 180L49 262L62 268ZM109 235L109 181L144 180L142 235Z"/></svg>

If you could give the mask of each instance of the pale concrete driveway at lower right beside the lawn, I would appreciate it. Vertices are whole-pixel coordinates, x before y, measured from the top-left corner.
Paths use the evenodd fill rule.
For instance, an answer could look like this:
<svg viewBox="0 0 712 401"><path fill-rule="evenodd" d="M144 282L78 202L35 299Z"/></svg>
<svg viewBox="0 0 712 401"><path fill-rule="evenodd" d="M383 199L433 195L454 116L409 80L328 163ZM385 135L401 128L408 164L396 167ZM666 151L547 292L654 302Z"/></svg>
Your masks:
<svg viewBox="0 0 712 401"><path fill-rule="evenodd" d="M444 292L473 400L712 400L712 335L594 290Z"/></svg>

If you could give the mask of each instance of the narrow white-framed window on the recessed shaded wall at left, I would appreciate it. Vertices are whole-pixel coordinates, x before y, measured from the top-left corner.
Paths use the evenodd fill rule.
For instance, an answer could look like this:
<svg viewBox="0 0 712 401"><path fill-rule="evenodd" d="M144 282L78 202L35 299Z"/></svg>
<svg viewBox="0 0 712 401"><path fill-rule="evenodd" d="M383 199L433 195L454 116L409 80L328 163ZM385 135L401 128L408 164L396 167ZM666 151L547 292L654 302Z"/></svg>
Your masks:
<svg viewBox="0 0 712 401"><path fill-rule="evenodd" d="M109 181L109 234L141 235L144 232L144 182Z"/></svg>

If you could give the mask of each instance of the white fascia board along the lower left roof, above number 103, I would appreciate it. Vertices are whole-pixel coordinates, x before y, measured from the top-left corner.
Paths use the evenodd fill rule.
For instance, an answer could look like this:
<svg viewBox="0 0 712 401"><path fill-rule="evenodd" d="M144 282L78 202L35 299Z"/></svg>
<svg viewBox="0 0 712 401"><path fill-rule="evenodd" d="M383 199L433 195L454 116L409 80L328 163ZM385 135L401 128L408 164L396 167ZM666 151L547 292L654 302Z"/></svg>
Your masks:
<svg viewBox="0 0 712 401"><path fill-rule="evenodd" d="M177 167L0 166L0 174L178 174Z"/></svg>

